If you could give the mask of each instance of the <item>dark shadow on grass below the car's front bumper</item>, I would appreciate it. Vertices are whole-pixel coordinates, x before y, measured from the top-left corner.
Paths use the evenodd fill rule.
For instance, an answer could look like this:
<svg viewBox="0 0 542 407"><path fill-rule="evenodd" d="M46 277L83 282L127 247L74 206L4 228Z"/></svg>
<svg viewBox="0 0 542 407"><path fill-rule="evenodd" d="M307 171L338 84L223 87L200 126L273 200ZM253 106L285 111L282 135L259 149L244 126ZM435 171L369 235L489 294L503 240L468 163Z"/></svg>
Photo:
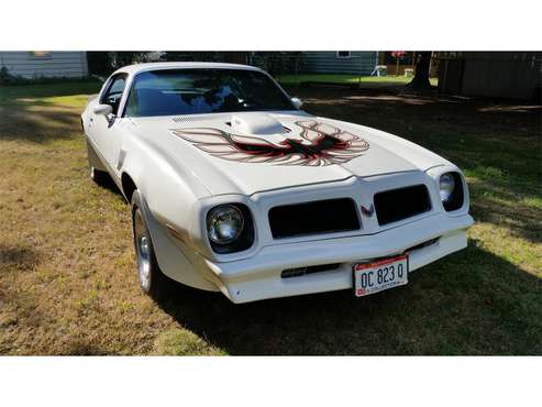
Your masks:
<svg viewBox="0 0 542 407"><path fill-rule="evenodd" d="M480 244L366 298L342 290L233 305L176 286L158 305L236 355L542 354L542 279Z"/></svg>

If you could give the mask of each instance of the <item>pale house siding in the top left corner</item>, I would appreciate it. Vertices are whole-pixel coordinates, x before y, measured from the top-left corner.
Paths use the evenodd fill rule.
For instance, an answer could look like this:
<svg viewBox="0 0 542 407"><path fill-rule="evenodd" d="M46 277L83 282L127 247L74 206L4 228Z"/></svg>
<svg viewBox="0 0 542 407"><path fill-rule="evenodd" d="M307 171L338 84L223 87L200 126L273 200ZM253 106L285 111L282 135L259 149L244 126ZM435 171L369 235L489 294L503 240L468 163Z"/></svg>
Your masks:
<svg viewBox="0 0 542 407"><path fill-rule="evenodd" d="M87 53L52 52L45 57L36 57L32 52L0 52L0 67L5 67L13 76L24 78L88 76Z"/></svg>

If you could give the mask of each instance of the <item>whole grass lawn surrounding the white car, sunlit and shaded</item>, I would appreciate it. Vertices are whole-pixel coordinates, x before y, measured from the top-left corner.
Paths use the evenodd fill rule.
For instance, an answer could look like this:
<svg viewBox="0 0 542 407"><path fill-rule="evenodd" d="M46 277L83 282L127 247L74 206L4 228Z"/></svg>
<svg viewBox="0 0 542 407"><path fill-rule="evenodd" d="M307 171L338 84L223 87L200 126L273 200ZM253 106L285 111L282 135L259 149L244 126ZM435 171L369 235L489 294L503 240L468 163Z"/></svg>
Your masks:
<svg viewBox="0 0 542 407"><path fill-rule="evenodd" d="M542 354L540 106L292 88L457 163L476 224L407 286L234 306L140 292L129 206L88 177L78 114L98 88L0 87L1 354Z"/></svg>

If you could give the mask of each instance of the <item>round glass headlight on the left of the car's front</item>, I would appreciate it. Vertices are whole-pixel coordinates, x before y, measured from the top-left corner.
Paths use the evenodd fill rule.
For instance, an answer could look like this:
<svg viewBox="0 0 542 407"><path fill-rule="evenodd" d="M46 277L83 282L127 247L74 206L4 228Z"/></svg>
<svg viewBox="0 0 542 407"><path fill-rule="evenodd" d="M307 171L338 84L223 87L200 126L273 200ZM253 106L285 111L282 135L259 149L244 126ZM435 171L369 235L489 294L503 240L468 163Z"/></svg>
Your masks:
<svg viewBox="0 0 542 407"><path fill-rule="evenodd" d="M212 209L207 217L209 238L218 244L234 242L243 231L243 213L231 205Z"/></svg>

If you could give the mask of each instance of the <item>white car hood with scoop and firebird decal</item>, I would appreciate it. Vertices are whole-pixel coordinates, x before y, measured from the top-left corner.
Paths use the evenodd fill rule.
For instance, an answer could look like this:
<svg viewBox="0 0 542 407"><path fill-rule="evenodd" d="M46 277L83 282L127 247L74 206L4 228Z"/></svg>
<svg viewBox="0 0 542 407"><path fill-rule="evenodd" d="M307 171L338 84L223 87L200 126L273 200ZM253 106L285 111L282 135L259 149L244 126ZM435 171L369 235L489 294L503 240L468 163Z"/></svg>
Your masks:
<svg viewBox="0 0 542 407"><path fill-rule="evenodd" d="M252 195L447 163L391 134L303 112L130 120L136 135L169 155L168 161L191 173L212 195Z"/></svg>

